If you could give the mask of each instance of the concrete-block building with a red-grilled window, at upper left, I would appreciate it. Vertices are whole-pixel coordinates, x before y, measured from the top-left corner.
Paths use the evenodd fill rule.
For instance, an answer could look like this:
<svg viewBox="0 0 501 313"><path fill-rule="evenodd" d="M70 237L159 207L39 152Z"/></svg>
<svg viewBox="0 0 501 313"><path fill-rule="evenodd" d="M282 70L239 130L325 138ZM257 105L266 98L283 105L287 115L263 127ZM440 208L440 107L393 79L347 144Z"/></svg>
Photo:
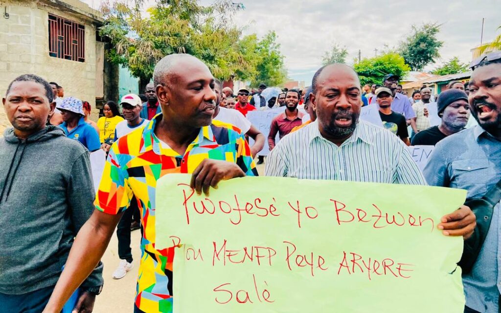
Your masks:
<svg viewBox="0 0 501 313"><path fill-rule="evenodd" d="M0 93L19 75L31 73L93 108L118 99L118 67L105 60L99 11L79 0L4 0L0 12ZM93 111L95 119L98 110ZM0 110L0 128L5 121Z"/></svg>

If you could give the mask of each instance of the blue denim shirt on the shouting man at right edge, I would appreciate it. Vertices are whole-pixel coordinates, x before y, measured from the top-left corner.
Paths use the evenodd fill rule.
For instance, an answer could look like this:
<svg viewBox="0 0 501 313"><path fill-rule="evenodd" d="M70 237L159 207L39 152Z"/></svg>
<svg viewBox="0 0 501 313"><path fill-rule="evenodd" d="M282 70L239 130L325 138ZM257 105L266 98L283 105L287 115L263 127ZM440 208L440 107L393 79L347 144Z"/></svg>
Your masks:
<svg viewBox="0 0 501 313"><path fill-rule="evenodd" d="M463 130L437 143L424 177L431 186L466 189L468 198L483 196L501 179L501 141L480 126ZM490 228L473 269L463 275L466 306L498 312L501 291L501 204L494 207Z"/></svg>

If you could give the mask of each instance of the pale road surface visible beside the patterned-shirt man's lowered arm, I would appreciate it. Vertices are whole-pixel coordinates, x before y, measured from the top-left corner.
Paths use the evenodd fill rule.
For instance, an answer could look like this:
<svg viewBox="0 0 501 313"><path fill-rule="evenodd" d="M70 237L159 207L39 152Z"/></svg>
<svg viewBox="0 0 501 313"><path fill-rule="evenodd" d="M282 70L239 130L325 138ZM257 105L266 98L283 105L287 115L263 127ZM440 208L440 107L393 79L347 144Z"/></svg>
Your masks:
<svg viewBox="0 0 501 313"><path fill-rule="evenodd" d="M258 165L258 172L263 175L265 166ZM136 293L136 279L139 268L139 260L141 251L139 250L139 242L141 232L134 230L131 235L132 256L134 257L134 268L130 270L125 277L121 279L113 279L112 273L118 266L120 259L118 258L118 240L116 233L111 238L108 249L104 253L104 287L101 294L96 298L94 305L94 313L110 313L120 312L129 313L133 311L134 295Z"/></svg>

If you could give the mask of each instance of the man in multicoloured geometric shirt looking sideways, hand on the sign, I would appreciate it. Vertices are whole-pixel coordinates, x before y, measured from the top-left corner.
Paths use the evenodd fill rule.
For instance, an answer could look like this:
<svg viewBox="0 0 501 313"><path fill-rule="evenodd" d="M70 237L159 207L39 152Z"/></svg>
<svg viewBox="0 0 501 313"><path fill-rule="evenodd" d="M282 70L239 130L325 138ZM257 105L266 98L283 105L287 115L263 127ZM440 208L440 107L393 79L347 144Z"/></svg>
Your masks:
<svg viewBox="0 0 501 313"><path fill-rule="evenodd" d="M103 255L113 231L136 196L144 234L134 312L172 311L174 247L155 248L155 189L171 173L192 173L191 187L208 194L210 186L257 175L242 134L214 126L214 78L200 60L187 54L160 60L153 73L162 114L142 131L113 143L91 218L82 227L65 270L44 312L60 312L73 291Z"/></svg>

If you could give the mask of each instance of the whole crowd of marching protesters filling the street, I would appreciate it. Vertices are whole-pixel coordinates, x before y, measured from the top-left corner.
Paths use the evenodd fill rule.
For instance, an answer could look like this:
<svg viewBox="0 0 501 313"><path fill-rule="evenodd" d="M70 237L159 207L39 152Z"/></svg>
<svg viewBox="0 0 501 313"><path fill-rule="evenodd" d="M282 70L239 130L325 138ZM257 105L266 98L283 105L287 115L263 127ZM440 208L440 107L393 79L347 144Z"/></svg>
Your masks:
<svg viewBox="0 0 501 313"><path fill-rule="evenodd" d="M463 271L464 312L499 311L501 54L472 69L467 85L455 82L438 99L427 87L408 98L392 74L362 88L344 64L323 66L304 90L261 85L234 95L203 62L173 54L156 65L144 100L129 94L118 106L107 102L97 123L88 102L64 97L56 83L16 78L3 99L13 127L0 138L0 312L60 312L77 288L75 311L92 311L115 229L120 261L113 278L134 266L134 222L142 256L131 310L171 312L175 248L155 248L157 180L190 173L191 187L208 194L221 180L258 175L254 160L267 138L245 116L280 107L266 134L266 176L443 186L466 189L468 199L493 199L490 215L475 217L474 207L462 205L437 227L465 245L480 234L473 266ZM435 101L441 124L429 127ZM385 127L359 119L367 105L378 106ZM465 128L470 115L478 125ZM410 143L435 145L423 172ZM99 149L108 156L95 193L89 151ZM478 218L490 228L476 227Z"/></svg>

